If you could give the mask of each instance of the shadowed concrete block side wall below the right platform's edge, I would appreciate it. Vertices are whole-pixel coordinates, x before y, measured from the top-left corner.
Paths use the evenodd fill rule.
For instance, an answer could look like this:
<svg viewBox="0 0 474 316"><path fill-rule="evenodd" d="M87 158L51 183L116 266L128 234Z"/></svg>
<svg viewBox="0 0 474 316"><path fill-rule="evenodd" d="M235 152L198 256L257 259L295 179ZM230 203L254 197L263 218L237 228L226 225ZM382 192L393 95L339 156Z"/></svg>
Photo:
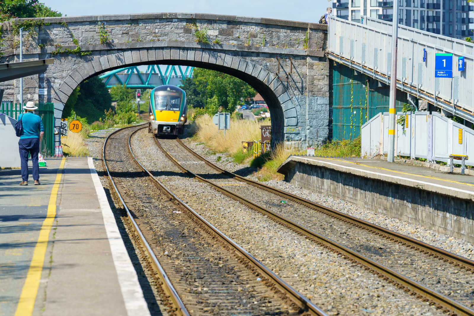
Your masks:
<svg viewBox="0 0 474 316"><path fill-rule="evenodd" d="M294 163L285 180L297 187L474 243L472 199L301 162Z"/></svg>

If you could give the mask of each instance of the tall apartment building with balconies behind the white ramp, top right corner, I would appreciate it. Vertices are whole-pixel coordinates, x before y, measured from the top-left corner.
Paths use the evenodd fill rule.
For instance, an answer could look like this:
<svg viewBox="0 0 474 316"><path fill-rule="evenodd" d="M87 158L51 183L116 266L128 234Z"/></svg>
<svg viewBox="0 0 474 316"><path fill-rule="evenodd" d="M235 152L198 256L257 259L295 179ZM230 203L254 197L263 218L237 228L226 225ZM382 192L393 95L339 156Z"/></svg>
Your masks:
<svg viewBox="0 0 474 316"><path fill-rule="evenodd" d="M393 1L335 0L333 14L361 21L361 16L392 22ZM466 0L398 0L399 24L455 38L474 38L474 6Z"/></svg>

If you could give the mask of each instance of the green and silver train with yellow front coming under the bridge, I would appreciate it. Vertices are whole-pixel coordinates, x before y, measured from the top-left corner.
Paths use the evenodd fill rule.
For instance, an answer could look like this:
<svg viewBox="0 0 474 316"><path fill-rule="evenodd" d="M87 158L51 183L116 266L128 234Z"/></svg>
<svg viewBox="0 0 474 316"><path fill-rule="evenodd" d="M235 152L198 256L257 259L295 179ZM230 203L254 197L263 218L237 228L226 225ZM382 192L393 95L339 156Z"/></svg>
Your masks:
<svg viewBox="0 0 474 316"><path fill-rule="evenodd" d="M186 123L186 92L172 86L156 87L150 92L150 123L148 133L156 135L179 135Z"/></svg>

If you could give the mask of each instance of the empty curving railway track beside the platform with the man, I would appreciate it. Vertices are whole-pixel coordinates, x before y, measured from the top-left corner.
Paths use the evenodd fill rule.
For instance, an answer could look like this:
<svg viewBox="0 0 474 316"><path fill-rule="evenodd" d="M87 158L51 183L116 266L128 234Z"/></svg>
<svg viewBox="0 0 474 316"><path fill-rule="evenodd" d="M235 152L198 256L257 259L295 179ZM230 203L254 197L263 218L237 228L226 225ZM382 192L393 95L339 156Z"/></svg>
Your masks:
<svg viewBox="0 0 474 316"><path fill-rule="evenodd" d="M147 172L130 144L142 128L109 135L103 161L159 274L170 314L326 315Z"/></svg>

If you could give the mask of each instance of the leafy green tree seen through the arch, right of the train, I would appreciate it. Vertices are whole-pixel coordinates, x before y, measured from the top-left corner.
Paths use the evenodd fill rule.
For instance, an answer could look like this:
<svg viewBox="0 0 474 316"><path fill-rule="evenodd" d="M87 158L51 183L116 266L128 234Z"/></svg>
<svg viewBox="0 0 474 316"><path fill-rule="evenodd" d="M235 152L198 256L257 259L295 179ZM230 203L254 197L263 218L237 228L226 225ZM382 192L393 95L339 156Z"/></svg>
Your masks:
<svg viewBox="0 0 474 316"><path fill-rule="evenodd" d="M205 111L211 115L217 113L219 107L232 113L237 106L243 105L245 100L254 98L256 94L246 82L213 70L195 68L192 81L195 88L189 85L190 99L200 98L204 103ZM188 96L188 91L186 91L186 96Z"/></svg>

